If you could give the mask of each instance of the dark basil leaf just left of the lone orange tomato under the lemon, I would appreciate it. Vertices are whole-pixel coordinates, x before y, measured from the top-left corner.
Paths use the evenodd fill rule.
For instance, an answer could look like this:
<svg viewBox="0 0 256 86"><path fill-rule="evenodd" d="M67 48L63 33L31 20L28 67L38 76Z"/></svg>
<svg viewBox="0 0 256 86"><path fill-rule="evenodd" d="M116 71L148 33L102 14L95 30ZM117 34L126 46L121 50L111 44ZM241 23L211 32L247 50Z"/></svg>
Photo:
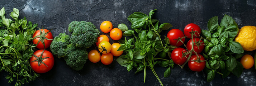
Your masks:
<svg viewBox="0 0 256 86"><path fill-rule="evenodd" d="M237 65L232 70L232 73L233 73L233 75L237 76L237 78L239 78L243 72L243 65L238 61L236 61L236 63L237 63Z"/></svg>

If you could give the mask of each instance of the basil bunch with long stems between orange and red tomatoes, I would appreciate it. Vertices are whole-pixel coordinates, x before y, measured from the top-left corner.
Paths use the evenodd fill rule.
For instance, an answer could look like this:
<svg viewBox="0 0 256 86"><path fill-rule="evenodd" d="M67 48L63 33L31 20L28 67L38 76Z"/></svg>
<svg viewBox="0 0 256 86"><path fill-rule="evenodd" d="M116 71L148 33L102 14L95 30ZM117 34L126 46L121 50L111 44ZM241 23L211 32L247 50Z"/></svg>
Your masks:
<svg viewBox="0 0 256 86"><path fill-rule="evenodd" d="M134 30L129 30L125 24L118 25L118 28L124 31L123 35L133 36L133 38L118 40L121 46L117 51L124 51L126 55L120 56L117 62L121 66L127 67L128 71L132 70L133 67L137 68L135 73L144 70L144 82L146 79L146 68L149 67L163 86L153 67L157 64L162 67L169 66L164 72L164 77L168 77L171 74L171 68L174 67L174 62L164 58L166 53L171 55L170 51L177 47L167 46L170 43L169 38L161 39L160 32L168 30L172 25L169 23L158 25L158 20L151 19L152 14L154 14L153 11L150 11L149 16L140 12L134 12L128 16L127 19L132 23L131 28L135 30L138 36L134 34ZM157 55L161 58L157 58Z"/></svg>

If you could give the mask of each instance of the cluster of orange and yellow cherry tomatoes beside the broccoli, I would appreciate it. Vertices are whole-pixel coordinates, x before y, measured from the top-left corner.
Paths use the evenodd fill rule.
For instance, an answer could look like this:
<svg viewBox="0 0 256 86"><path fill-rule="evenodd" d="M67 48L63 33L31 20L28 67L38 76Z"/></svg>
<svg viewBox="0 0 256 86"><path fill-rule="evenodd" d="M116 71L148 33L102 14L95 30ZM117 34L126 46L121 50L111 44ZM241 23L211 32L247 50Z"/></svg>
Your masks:
<svg viewBox="0 0 256 86"><path fill-rule="evenodd" d="M123 36L122 30L118 28L112 28L113 25L109 21L104 21L100 25L100 30L104 33L109 33L111 39L121 39ZM104 65L109 65L113 62L113 56L118 57L123 54L123 51L117 51L121 45L119 43L110 44L108 36L104 34L98 37L96 45L99 51L93 49L88 53L88 59L93 63L101 61L101 63ZM100 53L102 53L102 55L100 55Z"/></svg>

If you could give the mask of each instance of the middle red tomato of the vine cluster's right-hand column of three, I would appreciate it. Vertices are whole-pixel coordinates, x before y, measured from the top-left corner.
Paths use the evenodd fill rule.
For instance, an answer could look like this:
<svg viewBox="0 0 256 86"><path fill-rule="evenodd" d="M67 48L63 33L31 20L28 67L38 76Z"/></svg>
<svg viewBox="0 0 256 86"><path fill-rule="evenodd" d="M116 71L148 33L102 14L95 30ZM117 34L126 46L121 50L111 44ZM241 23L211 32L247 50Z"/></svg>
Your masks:
<svg viewBox="0 0 256 86"><path fill-rule="evenodd" d="M198 42L200 40L200 38L193 38L193 42ZM202 43L201 43L202 42ZM204 42L203 40L200 40L201 46L199 46L199 48L196 46L196 44L194 43L194 51L199 54L203 51L204 49ZM192 49L192 39L189 40L189 42L187 43L187 48L188 51L190 51ZM193 52L192 54L195 54L195 52Z"/></svg>

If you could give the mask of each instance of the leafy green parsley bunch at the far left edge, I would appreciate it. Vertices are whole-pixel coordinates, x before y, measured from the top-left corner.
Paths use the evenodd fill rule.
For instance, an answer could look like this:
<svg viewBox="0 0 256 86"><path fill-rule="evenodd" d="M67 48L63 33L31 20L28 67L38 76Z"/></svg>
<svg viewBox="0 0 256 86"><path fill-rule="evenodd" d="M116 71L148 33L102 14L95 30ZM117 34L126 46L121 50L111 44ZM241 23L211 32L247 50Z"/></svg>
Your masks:
<svg viewBox="0 0 256 86"><path fill-rule="evenodd" d="M19 19L19 10L13 8L10 16L14 19L5 18L5 9L0 11L0 71L9 72L5 78L9 83L16 81L15 86L35 80L39 75L35 73L29 58L34 53L35 44L32 35L38 24L27 22L27 19ZM17 32L17 33L15 33Z"/></svg>

